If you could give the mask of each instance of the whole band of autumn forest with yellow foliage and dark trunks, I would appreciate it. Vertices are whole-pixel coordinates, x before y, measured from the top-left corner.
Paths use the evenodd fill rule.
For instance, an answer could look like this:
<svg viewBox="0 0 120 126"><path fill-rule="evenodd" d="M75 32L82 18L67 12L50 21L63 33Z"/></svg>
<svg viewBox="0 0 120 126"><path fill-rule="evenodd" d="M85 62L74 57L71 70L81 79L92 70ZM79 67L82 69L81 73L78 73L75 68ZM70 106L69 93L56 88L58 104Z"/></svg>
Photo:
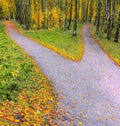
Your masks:
<svg viewBox="0 0 120 126"><path fill-rule="evenodd" d="M96 34L118 42L120 28L120 0L0 0L0 18L16 19L25 29L47 29L73 26L77 23L96 25Z"/></svg>

